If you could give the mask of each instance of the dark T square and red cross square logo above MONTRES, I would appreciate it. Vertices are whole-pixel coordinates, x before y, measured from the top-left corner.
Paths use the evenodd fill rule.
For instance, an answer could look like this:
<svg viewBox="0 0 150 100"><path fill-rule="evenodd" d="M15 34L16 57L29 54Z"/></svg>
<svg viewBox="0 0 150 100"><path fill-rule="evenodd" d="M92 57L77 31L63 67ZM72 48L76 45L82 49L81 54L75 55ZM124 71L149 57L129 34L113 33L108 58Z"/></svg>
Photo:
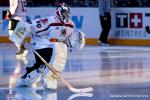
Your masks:
<svg viewBox="0 0 150 100"><path fill-rule="evenodd" d="M143 18L142 13L117 13L116 27L117 28L142 28Z"/></svg>

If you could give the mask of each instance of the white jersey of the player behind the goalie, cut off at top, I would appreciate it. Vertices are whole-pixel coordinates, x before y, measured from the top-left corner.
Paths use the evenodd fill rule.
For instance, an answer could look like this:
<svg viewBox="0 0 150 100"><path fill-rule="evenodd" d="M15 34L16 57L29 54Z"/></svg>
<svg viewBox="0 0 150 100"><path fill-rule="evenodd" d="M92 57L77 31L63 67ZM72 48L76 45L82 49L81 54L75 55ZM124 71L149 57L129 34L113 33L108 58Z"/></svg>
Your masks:
<svg viewBox="0 0 150 100"><path fill-rule="evenodd" d="M19 17L27 15L26 0L9 0L9 4L11 15Z"/></svg>

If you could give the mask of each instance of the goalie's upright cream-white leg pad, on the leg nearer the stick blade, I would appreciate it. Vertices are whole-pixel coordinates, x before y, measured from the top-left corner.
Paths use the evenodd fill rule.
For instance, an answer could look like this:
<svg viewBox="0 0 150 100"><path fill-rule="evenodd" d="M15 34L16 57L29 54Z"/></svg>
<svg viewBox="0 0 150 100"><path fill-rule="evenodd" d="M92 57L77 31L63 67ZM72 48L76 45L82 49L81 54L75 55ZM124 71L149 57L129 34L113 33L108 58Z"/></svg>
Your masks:
<svg viewBox="0 0 150 100"><path fill-rule="evenodd" d="M61 73L65 67L67 60L67 46L64 43L56 42L55 47L53 48L54 52L50 61L50 64L53 65L53 68ZM57 79L58 77L49 71L42 77L42 85L46 89L56 89L57 88Z"/></svg>

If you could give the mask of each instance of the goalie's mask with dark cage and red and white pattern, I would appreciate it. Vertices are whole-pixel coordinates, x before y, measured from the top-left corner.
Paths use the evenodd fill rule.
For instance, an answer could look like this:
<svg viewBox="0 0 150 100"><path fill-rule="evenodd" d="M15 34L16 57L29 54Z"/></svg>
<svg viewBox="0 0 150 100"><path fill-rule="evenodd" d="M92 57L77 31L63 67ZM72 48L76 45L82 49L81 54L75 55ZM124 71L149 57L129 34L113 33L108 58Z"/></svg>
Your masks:
<svg viewBox="0 0 150 100"><path fill-rule="evenodd" d="M65 3L59 4L55 13L56 16L63 22L67 22L70 19L70 8Z"/></svg>

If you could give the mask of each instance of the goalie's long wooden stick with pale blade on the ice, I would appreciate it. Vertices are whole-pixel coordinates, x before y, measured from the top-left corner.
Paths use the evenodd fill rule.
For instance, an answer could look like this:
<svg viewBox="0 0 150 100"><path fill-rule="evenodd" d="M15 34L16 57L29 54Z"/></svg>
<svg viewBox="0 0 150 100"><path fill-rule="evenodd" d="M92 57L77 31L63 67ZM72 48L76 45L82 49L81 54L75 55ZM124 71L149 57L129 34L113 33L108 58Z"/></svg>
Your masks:
<svg viewBox="0 0 150 100"><path fill-rule="evenodd" d="M16 33L17 34L17 33ZM20 36L19 34L17 34L18 37L23 38L22 36ZM26 41L27 42L27 41ZM42 61L43 63L54 73L57 75L57 77L59 77L61 79L61 81L69 88L70 91L75 92L75 93L85 93L85 92L92 92L93 88L92 87L88 87L88 88L75 88L73 87L68 81L66 81L60 74L57 73L57 71L53 68L53 65L47 63L42 57L41 55L38 54L38 52L33 51Z"/></svg>

